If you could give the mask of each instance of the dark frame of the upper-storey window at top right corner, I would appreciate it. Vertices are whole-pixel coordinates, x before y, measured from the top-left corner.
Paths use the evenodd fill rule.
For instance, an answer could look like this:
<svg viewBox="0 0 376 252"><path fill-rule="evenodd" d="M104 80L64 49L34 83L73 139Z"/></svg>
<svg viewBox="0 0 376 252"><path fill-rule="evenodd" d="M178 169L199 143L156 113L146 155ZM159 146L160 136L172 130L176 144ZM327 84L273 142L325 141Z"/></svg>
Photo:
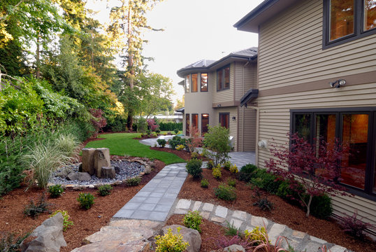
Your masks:
<svg viewBox="0 0 376 252"><path fill-rule="evenodd" d="M354 0L354 33L348 34L346 36L342 36L340 38L336 38L333 41L330 41L330 8L331 8L331 0L324 0L323 1L323 36L322 36L322 49L332 48L336 45L342 45L343 43L347 43L349 41L354 41L358 38L363 38L366 36L370 36L372 34L376 34L376 27L373 29L369 29L367 31L363 30L364 27L364 0Z"/></svg>

